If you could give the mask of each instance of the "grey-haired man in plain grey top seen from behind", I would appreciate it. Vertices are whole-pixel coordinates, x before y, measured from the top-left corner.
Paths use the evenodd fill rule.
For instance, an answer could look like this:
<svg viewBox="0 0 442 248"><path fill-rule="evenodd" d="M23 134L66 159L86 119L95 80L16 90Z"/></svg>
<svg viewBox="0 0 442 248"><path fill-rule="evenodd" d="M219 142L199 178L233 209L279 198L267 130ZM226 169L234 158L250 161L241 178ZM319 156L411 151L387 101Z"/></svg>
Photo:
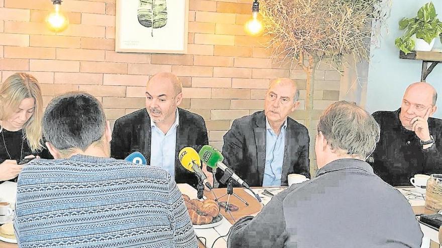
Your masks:
<svg viewBox="0 0 442 248"><path fill-rule="evenodd" d="M365 162L379 141L373 117L337 102L324 111L317 130L316 177L235 223L229 247L420 247L422 232L410 204Z"/></svg>

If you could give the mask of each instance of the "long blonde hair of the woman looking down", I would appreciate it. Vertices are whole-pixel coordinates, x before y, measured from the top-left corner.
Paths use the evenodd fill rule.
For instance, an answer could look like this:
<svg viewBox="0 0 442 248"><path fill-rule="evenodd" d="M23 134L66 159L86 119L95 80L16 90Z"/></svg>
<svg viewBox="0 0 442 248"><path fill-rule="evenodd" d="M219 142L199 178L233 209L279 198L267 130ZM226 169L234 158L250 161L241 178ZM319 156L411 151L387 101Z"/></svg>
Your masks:
<svg viewBox="0 0 442 248"><path fill-rule="evenodd" d="M37 79L27 73L15 73L0 88L0 120L7 120L26 98L34 98L35 109L23 126L25 137L32 151L43 147L41 118L43 98Z"/></svg>

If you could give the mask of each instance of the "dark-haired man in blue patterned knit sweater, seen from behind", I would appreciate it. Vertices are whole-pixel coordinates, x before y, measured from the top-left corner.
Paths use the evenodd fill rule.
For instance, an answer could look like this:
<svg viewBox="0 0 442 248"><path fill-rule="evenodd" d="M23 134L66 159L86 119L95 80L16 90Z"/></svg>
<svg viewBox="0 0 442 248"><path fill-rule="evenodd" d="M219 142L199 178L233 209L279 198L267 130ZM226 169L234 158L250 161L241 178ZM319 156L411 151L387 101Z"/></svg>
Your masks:
<svg viewBox="0 0 442 248"><path fill-rule="evenodd" d="M19 247L197 247L170 174L109 158L111 129L94 97L53 99L42 126L55 159L35 159L19 175Z"/></svg>

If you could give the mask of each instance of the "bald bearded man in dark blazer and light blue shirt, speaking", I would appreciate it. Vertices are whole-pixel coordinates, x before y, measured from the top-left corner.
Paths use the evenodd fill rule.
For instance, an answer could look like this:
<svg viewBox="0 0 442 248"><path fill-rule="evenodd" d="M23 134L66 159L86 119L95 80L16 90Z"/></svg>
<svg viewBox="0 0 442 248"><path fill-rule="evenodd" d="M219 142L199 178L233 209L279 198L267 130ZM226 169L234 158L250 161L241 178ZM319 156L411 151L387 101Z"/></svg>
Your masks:
<svg viewBox="0 0 442 248"><path fill-rule="evenodd" d="M124 159L141 152L150 165L169 171L177 183L197 184L196 176L180 165L179 151L208 144L201 116L178 108L182 85L172 73L154 75L146 87L146 108L119 118L114 125L111 155Z"/></svg>

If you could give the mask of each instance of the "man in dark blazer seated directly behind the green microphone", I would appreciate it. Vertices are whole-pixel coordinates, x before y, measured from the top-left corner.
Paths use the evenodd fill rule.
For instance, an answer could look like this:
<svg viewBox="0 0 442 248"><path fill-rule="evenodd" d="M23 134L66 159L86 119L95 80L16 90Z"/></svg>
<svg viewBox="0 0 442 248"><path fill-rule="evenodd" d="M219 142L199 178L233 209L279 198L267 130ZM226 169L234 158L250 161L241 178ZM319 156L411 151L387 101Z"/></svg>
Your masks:
<svg viewBox="0 0 442 248"><path fill-rule="evenodd" d="M224 135L226 164L250 186L287 185L291 173L310 177L307 128L288 117L298 98L293 80L273 80L264 111L235 120ZM218 170L218 181L222 175Z"/></svg>

